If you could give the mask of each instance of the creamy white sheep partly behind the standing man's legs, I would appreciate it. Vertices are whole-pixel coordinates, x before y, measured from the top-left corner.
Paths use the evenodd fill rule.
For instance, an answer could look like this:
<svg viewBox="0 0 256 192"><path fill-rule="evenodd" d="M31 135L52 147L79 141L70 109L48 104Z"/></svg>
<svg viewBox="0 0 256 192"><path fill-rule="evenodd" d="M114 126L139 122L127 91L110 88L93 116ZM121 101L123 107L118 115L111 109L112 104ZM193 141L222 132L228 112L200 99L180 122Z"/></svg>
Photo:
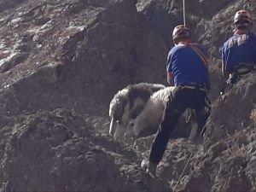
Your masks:
<svg viewBox="0 0 256 192"><path fill-rule="evenodd" d="M125 137L147 137L154 134L159 125L160 120L165 109L165 104L167 102L170 92L174 89L173 86L166 87L165 89L158 90L154 92L152 96L148 99L143 111L137 115L137 118L131 119L125 130ZM189 139L194 140L197 134L197 123L195 119L195 110L187 109L185 112L189 113L189 116L186 113L180 117L177 122L176 130L184 131L184 127L187 127L188 132L190 131Z"/></svg>

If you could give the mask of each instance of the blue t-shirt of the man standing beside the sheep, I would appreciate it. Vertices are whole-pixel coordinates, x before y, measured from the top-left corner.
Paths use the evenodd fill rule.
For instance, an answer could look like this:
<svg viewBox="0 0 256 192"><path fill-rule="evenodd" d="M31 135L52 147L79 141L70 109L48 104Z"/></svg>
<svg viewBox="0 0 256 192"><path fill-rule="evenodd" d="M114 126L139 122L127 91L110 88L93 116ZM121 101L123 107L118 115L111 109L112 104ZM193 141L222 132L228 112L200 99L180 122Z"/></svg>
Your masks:
<svg viewBox="0 0 256 192"><path fill-rule="evenodd" d="M194 44L207 57L207 50ZM174 84L207 84L209 85L208 68L201 56L189 45L175 45L168 53L167 72L174 76Z"/></svg>

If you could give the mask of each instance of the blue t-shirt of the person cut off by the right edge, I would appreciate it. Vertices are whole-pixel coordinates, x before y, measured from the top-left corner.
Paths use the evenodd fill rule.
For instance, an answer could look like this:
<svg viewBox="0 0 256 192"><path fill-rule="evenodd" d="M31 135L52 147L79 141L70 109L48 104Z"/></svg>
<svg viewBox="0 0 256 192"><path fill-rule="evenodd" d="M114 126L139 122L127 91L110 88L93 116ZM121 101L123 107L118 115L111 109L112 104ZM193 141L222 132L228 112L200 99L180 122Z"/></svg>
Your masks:
<svg viewBox="0 0 256 192"><path fill-rule="evenodd" d="M224 68L230 72L239 63L256 63L256 35L236 34L222 48Z"/></svg>

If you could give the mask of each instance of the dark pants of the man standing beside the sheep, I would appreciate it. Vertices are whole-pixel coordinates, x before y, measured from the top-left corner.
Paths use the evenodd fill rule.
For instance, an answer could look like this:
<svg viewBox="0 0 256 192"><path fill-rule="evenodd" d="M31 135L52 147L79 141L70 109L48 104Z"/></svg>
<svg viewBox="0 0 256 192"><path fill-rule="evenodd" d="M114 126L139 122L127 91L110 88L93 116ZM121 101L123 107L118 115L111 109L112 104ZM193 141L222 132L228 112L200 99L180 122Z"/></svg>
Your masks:
<svg viewBox="0 0 256 192"><path fill-rule="evenodd" d="M170 134L177 124L177 120L186 108L195 109L195 117L200 131L211 113L210 101L207 92L199 89L188 89L177 86L169 96L160 127L152 143L149 161L158 164L166 150Z"/></svg>

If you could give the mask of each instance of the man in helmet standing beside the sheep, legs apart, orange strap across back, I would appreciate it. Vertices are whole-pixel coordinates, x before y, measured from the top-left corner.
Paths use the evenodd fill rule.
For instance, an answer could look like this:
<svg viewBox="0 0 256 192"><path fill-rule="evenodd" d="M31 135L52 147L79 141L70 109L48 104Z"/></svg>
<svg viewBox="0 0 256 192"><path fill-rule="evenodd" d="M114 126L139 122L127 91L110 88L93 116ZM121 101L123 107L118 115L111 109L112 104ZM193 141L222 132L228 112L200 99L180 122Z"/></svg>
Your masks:
<svg viewBox="0 0 256 192"><path fill-rule="evenodd" d="M184 110L195 109L201 135L204 133L204 125L211 113L208 99L210 83L206 49L200 44L192 43L190 30L183 25L174 28L172 39L175 46L168 53L166 71L168 84L174 84L175 88L168 96L149 158L143 160L141 165L150 175L155 175L170 134Z"/></svg>

